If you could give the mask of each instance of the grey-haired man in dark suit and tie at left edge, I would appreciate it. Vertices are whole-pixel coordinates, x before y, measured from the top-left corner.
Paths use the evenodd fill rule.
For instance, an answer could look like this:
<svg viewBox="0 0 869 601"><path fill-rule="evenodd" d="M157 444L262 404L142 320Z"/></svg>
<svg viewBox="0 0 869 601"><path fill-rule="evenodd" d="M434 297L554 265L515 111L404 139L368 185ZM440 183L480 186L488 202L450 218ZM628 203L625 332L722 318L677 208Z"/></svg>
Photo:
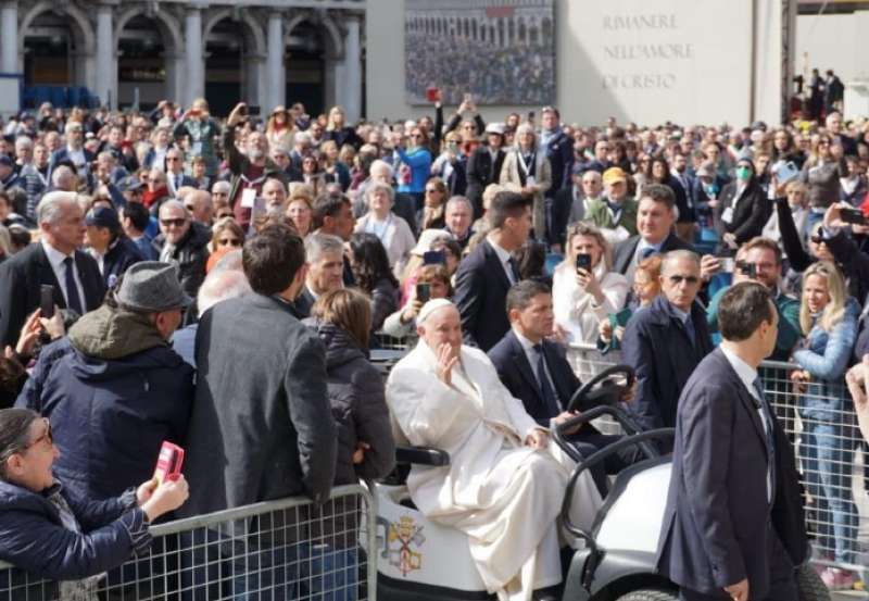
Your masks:
<svg viewBox="0 0 869 601"><path fill-rule="evenodd" d="M21 328L39 308L41 285L54 287L54 304L79 315L105 295L97 262L77 250L85 218L75 192L49 192L37 208L41 239L0 265L0 343L15 346Z"/></svg>

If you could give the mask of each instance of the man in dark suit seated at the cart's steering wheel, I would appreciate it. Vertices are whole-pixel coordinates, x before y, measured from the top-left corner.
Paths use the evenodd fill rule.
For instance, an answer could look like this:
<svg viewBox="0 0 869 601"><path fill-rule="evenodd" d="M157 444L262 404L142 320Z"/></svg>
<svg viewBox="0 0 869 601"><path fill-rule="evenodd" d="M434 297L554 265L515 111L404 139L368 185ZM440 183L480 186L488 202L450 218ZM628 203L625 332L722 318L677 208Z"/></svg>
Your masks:
<svg viewBox="0 0 869 601"><path fill-rule="evenodd" d="M498 377L544 428L570 418L574 414L566 411L567 403L582 383L563 349L546 340L555 322L550 287L534 279L512 287L507 292L507 316L511 330L488 353ZM571 433L570 441L583 456L589 456L619 438L603 435L587 424ZM606 474L617 474L622 467L625 462L612 455L606 465L592 469L601 494L606 494Z"/></svg>

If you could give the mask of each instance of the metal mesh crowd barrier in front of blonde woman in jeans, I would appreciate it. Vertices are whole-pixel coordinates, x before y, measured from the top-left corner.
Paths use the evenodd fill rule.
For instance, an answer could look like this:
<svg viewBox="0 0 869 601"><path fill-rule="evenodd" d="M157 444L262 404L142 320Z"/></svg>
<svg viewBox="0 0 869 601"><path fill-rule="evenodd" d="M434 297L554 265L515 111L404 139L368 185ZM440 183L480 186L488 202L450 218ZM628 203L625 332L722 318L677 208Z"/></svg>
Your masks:
<svg viewBox="0 0 869 601"><path fill-rule="evenodd" d="M568 360L583 381L618 364L619 359L618 351L602 355L591 345L568 349ZM806 392L799 392L790 379L799 368L794 363L765 361L759 375L794 446L803 477L806 526L813 539L811 561L858 572L869 586L869 447L857 428L844 379L826 390L813 383ZM803 409L807 416L802 416L808 397L826 414L807 415ZM595 422L595 426L606 434L620 434L612 421Z"/></svg>

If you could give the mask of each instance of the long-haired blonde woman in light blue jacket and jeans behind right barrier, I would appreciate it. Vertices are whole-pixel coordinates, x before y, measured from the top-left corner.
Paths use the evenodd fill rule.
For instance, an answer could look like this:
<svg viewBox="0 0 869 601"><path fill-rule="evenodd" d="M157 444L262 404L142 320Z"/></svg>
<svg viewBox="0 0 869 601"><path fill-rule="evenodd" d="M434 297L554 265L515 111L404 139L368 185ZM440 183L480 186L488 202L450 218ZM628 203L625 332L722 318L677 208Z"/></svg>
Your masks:
<svg viewBox="0 0 869 601"><path fill-rule="evenodd" d="M803 274L799 325L806 335L794 352L802 367L791 379L803 393L797 406L803 422L799 455L808 493L815 502L821 559L857 563L858 514L851 496L854 406L844 375L854 350L860 305L847 296L839 268L828 261ZM828 567L821 579L831 590L849 589L854 573Z"/></svg>

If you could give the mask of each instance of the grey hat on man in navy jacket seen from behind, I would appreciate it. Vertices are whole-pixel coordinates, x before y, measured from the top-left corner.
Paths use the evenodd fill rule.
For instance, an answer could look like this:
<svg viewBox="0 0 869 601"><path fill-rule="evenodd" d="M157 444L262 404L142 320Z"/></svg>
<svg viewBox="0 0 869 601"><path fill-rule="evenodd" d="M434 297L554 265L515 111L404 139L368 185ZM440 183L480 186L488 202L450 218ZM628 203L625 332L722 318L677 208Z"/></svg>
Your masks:
<svg viewBox="0 0 869 601"><path fill-rule="evenodd" d="M192 302L181 290L177 265L159 261L142 261L128 268L115 299L122 308L137 313L182 309Z"/></svg>

